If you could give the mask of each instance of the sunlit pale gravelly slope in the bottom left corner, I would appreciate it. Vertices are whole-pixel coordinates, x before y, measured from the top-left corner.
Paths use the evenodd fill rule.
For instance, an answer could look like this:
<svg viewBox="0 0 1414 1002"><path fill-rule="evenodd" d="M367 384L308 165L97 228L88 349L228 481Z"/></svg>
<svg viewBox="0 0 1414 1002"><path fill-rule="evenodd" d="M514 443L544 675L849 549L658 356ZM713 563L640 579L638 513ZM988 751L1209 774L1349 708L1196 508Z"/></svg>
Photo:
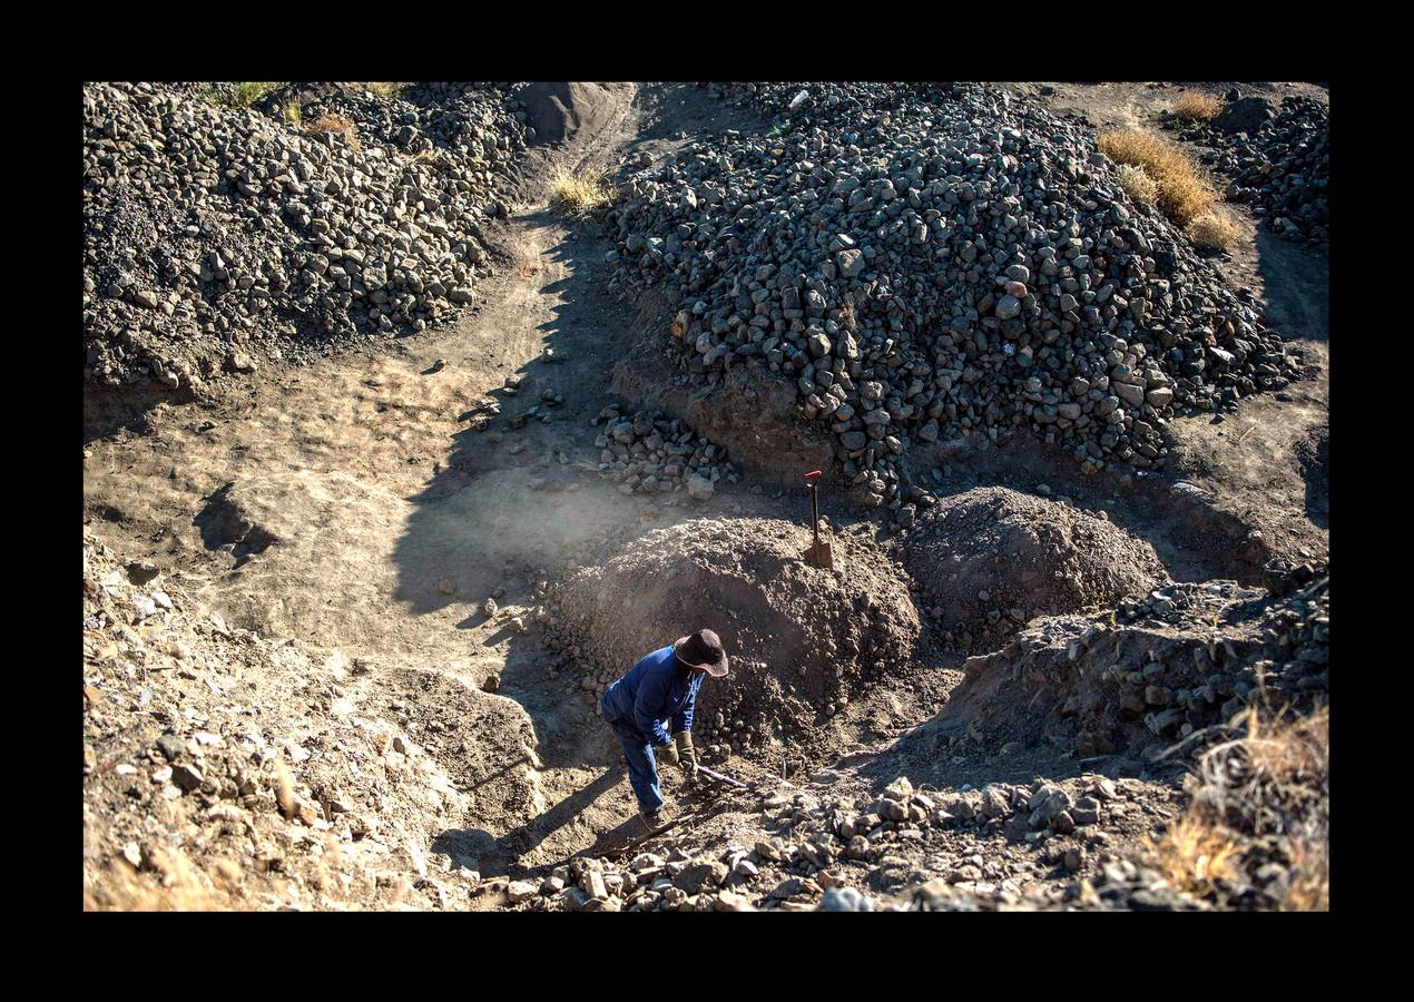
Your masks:
<svg viewBox="0 0 1414 1002"><path fill-rule="evenodd" d="M428 701L471 704L475 748L414 735ZM436 839L477 797L533 806L525 742L509 700L229 626L85 537L85 909L472 907Z"/></svg>

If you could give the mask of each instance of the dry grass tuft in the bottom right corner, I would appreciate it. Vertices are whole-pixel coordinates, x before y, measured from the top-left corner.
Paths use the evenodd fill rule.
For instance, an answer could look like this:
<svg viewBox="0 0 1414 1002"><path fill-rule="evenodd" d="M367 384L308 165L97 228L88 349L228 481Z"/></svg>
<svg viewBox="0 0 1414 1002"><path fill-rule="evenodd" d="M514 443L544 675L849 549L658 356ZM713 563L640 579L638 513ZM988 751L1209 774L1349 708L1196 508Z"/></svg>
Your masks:
<svg viewBox="0 0 1414 1002"><path fill-rule="evenodd" d="M1329 708L1290 719L1253 705L1233 726L1239 736L1199 760L1186 811L1147 838L1145 862L1176 888L1220 899L1249 880L1246 869L1267 858L1263 844L1280 837L1290 848L1277 907L1329 909Z"/></svg>

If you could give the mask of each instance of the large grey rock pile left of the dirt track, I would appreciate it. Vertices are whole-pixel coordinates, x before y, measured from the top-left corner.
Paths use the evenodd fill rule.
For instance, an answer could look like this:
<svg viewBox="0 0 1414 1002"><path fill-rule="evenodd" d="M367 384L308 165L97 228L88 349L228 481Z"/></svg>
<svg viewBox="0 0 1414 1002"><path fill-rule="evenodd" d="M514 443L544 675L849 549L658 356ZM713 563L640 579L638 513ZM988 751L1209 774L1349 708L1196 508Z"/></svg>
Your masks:
<svg viewBox="0 0 1414 1002"><path fill-rule="evenodd" d="M291 85L235 109L221 93L83 89L86 380L199 391L474 301L482 225L525 147L513 96Z"/></svg>

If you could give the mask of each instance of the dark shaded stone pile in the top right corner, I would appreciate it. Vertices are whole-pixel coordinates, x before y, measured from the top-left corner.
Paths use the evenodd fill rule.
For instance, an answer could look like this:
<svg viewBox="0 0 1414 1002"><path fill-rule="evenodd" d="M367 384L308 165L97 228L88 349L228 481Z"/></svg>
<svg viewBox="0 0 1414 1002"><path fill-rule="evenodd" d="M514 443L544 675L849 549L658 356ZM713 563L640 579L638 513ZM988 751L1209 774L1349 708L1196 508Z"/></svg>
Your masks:
<svg viewBox="0 0 1414 1002"><path fill-rule="evenodd" d="M1266 98L1241 98L1179 137L1212 147L1199 158L1230 178L1229 202L1250 205L1285 240L1329 250L1329 105L1290 95L1278 112Z"/></svg>

